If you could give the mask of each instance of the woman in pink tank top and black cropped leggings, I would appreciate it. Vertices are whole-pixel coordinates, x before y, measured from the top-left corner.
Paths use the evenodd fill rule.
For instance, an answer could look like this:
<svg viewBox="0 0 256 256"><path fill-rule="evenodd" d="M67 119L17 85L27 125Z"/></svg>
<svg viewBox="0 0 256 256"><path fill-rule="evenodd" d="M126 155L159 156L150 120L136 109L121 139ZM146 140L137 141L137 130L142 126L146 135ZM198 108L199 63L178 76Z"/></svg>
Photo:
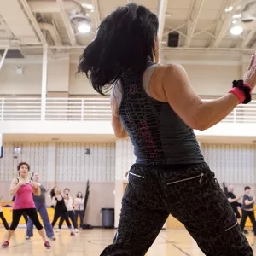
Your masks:
<svg viewBox="0 0 256 256"><path fill-rule="evenodd" d="M32 198L32 194L40 195L41 190L37 183L32 182L28 177L30 166L22 162L18 166L19 177L14 178L10 187L10 194L15 195L15 202L13 207L13 220L9 228L7 240L3 242L2 247L9 247L9 241L14 235L15 229L17 228L21 215L23 212L31 218L32 223L36 226L39 235L44 241L44 247L50 248L49 241L46 240L44 228L38 219L38 213Z"/></svg>

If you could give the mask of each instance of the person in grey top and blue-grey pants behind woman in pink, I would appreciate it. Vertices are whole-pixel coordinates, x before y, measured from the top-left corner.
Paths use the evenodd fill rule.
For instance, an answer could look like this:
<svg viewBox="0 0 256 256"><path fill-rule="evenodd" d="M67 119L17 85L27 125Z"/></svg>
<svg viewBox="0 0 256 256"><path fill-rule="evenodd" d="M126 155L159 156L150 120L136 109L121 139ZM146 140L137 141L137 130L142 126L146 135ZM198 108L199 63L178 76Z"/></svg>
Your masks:
<svg viewBox="0 0 256 256"><path fill-rule="evenodd" d="M47 192L47 190L44 188L44 186L42 184L39 183L39 173L38 172L32 172L32 181L34 183L38 183L38 186L40 187L41 190L41 195L33 195L33 200L36 206L37 211L39 212L42 220L43 220L43 224L44 224L44 229L46 232L46 236L50 239L55 241L55 235L52 229L52 225L49 221L49 216L48 216L48 212L46 209L46 205L45 205L45 193ZM33 223L32 223L32 219L29 218L28 222L26 224L26 240L29 240L31 237L33 236Z"/></svg>

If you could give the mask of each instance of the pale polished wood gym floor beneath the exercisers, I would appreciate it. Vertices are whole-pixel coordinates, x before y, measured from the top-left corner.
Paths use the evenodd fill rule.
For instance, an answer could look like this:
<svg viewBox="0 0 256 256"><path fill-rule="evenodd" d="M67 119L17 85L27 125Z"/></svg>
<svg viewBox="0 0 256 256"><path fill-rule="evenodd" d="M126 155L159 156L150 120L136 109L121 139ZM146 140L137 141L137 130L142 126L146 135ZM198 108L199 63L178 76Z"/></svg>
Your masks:
<svg viewBox="0 0 256 256"><path fill-rule="evenodd" d="M57 240L51 241L52 248L44 249L44 243L35 230L30 241L25 240L26 229L19 228L10 242L9 248L0 248L1 256L99 256L104 247L113 241L115 230L81 230L76 236L70 236L67 229L56 235ZM0 228L1 242L6 231ZM256 252L256 238L253 233L247 236ZM149 249L147 256L202 256L195 241L186 230L163 230Z"/></svg>

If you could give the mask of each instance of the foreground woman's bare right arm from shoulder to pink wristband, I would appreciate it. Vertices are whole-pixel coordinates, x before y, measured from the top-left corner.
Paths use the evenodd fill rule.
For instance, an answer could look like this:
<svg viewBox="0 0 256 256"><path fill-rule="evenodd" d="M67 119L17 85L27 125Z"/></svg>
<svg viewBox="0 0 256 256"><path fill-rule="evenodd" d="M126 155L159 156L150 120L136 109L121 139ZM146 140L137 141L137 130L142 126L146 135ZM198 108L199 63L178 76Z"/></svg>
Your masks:
<svg viewBox="0 0 256 256"><path fill-rule="evenodd" d="M168 102L193 129L203 131L216 125L239 104L237 97L231 93L211 102L202 102L180 65L160 66L156 72L154 82L150 79L150 94L160 101Z"/></svg>

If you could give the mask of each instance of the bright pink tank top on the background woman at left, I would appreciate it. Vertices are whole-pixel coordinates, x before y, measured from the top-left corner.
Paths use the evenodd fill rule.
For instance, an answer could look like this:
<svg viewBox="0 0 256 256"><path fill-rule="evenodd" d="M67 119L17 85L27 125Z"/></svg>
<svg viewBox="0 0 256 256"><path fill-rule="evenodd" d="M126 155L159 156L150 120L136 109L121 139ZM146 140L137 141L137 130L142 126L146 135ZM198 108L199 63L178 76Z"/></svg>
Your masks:
<svg viewBox="0 0 256 256"><path fill-rule="evenodd" d="M15 195L14 210L35 208L30 183L21 185Z"/></svg>

